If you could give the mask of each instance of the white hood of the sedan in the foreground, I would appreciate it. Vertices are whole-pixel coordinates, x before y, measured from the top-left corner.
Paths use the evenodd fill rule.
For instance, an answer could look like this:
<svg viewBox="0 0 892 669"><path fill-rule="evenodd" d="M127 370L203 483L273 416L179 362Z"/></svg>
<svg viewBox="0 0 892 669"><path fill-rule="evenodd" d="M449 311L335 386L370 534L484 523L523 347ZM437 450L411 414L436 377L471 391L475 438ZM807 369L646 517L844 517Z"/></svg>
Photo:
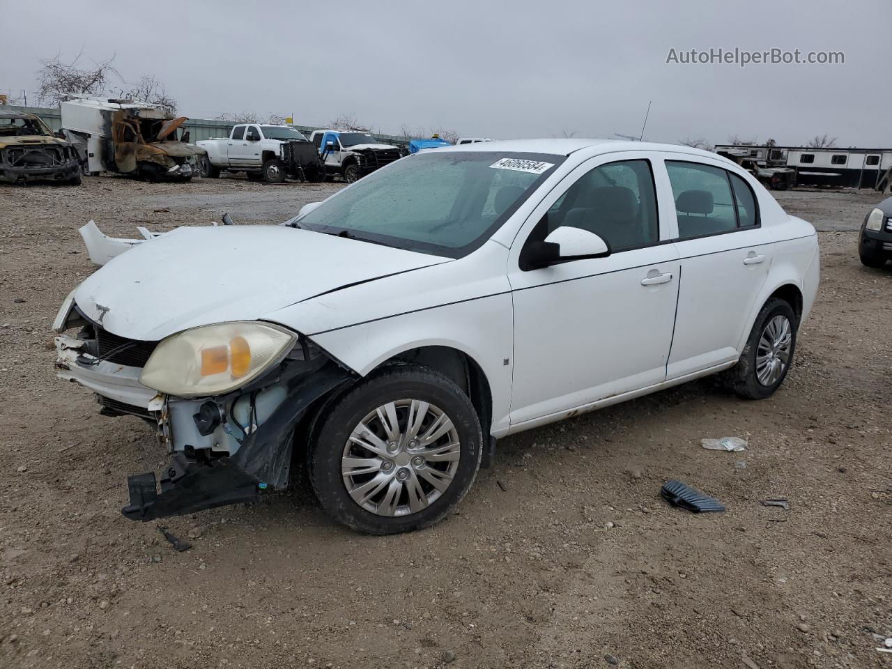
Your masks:
<svg viewBox="0 0 892 669"><path fill-rule="evenodd" d="M293 227L180 227L110 260L74 301L115 335L158 341L448 261Z"/></svg>

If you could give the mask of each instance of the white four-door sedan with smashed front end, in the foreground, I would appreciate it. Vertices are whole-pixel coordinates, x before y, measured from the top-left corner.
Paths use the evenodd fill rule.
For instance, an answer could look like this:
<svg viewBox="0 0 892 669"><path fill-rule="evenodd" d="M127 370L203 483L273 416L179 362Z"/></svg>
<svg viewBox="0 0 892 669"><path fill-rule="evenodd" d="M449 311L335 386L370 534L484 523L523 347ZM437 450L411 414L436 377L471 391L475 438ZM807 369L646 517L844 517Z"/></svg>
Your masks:
<svg viewBox="0 0 892 669"><path fill-rule="evenodd" d="M441 519L508 434L719 372L771 395L820 273L814 227L738 165L603 140L409 156L277 227L84 234L117 257L56 318L59 376L173 456L125 516L296 464L368 533Z"/></svg>

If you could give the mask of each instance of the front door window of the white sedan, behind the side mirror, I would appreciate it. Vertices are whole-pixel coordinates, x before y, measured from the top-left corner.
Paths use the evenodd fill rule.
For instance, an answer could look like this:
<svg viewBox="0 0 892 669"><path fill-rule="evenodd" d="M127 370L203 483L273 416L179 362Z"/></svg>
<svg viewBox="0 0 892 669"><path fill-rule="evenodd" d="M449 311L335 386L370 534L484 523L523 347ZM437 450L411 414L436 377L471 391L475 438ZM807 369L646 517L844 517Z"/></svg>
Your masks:
<svg viewBox="0 0 892 669"><path fill-rule="evenodd" d="M548 231L561 226L593 232L613 251L657 242L657 195L650 163L618 161L591 169L549 210Z"/></svg>

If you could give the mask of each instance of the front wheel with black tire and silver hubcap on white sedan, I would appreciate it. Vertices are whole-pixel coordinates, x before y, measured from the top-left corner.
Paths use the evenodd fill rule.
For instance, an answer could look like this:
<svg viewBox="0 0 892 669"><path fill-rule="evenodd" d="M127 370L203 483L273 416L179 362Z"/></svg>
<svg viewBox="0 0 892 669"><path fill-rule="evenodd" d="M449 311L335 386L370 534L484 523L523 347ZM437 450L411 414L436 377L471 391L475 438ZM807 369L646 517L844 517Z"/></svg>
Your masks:
<svg viewBox="0 0 892 669"><path fill-rule="evenodd" d="M418 411L417 401L429 406ZM451 427L426 448L411 446L415 440L409 439L413 434L408 426L413 410L415 417L422 414L417 434L431 434L428 431L443 417ZM387 432L384 420L391 416L397 418L399 435ZM368 429L365 434L375 435L366 443L376 451L350 440L351 434L359 434L360 425ZM434 433L442 428L434 428ZM483 454L480 421L467 395L447 376L418 365L387 366L373 372L326 407L312 432L307 469L319 503L338 522L370 534L412 532L441 520L474 483ZM458 461L442 453L452 444L445 455L456 455L455 439ZM434 448L440 452L432 453ZM362 467L355 463L359 468L345 474L342 467L348 465L343 458L365 458L366 462ZM434 486L431 479L440 485ZM376 483L370 483L373 480ZM410 496L410 491L419 490L417 486L420 494ZM362 500L364 493L368 500Z"/></svg>

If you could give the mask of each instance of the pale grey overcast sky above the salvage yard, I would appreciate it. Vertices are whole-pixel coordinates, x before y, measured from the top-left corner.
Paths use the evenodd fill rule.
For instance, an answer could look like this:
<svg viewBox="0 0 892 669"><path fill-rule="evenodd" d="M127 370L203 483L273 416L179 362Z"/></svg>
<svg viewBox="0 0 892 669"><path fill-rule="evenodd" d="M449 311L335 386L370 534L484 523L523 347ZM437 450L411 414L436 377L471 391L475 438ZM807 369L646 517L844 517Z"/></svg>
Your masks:
<svg viewBox="0 0 892 669"><path fill-rule="evenodd" d="M892 2L481 0L151 4L0 0L0 91L34 91L39 60L115 56L159 78L179 111L349 113L384 133L493 138L731 135L892 146ZM39 37L37 37L39 36ZM840 51L845 64L667 64L710 48ZM33 96L29 94L29 98Z"/></svg>

